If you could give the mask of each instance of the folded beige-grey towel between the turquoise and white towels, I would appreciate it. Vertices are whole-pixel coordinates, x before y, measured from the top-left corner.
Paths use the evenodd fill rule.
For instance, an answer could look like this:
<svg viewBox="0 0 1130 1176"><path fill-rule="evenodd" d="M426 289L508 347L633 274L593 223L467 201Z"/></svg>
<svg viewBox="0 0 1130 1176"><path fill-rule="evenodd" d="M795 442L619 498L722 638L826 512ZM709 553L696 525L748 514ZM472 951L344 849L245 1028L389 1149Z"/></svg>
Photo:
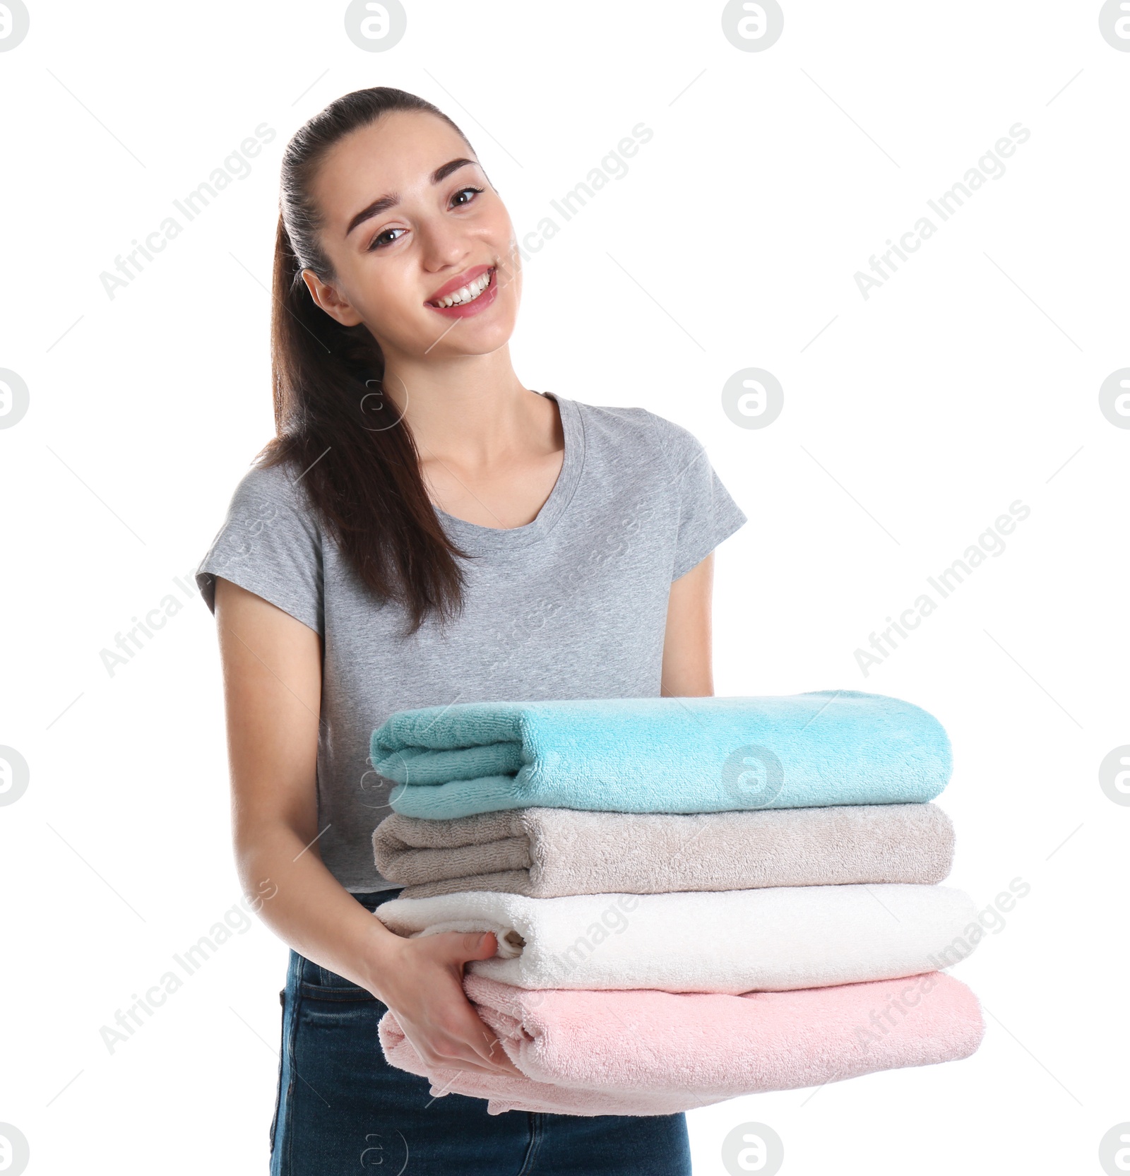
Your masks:
<svg viewBox="0 0 1130 1176"><path fill-rule="evenodd" d="M934 883L950 871L954 826L936 804L693 815L528 808L452 821L394 813L376 827L373 850L402 898Z"/></svg>

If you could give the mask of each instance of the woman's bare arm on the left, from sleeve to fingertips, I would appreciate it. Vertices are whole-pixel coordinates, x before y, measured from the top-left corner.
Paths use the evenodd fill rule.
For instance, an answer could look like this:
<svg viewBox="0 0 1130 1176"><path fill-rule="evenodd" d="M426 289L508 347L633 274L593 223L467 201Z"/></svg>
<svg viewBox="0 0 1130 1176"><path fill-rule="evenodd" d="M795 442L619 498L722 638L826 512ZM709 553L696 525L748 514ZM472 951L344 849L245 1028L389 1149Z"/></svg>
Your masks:
<svg viewBox="0 0 1130 1176"><path fill-rule="evenodd" d="M463 963L492 934L402 938L366 910L317 849L321 639L254 593L216 580L232 815L240 882L295 951L373 993L426 1062L514 1073L463 995Z"/></svg>

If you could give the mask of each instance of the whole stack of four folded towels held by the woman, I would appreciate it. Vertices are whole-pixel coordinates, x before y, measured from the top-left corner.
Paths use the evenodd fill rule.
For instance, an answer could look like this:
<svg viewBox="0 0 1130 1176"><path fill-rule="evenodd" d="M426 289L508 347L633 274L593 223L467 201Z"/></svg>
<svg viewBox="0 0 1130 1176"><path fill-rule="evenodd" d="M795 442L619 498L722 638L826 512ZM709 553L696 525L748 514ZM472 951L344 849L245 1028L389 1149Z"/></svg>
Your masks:
<svg viewBox="0 0 1130 1176"><path fill-rule="evenodd" d="M940 956L976 920L938 886L945 731L837 690L464 703L393 715L373 837L401 935L494 931L464 990L522 1077L390 1064L504 1110L655 1115L970 1055ZM976 936L975 940L979 937Z"/></svg>

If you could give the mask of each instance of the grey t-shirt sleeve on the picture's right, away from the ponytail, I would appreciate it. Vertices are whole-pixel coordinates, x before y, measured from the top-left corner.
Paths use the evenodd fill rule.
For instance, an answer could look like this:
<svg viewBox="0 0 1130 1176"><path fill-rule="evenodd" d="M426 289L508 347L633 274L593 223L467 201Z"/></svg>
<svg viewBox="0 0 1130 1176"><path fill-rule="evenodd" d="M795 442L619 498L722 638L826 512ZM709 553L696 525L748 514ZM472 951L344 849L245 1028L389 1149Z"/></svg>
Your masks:
<svg viewBox="0 0 1130 1176"><path fill-rule="evenodd" d="M702 442L689 429L656 417L661 442L678 494L678 534L671 581L701 563L745 521L722 485Z"/></svg>

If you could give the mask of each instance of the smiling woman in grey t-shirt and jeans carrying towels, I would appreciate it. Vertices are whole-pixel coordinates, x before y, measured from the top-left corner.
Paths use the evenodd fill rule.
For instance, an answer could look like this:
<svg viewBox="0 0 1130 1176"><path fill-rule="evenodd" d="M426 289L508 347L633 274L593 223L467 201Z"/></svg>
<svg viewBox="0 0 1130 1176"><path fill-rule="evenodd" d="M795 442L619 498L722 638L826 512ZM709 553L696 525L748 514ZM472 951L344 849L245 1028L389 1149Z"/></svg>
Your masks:
<svg viewBox="0 0 1130 1176"><path fill-rule="evenodd" d="M278 435L196 574L240 878L292 948L272 1171L688 1172L682 1115L488 1116L385 1063L389 1008L435 1068L513 1073L461 987L493 935L373 917L399 890L368 737L437 703L711 694L710 553L745 516L686 429L519 381L513 227L430 103L333 102L280 203Z"/></svg>

